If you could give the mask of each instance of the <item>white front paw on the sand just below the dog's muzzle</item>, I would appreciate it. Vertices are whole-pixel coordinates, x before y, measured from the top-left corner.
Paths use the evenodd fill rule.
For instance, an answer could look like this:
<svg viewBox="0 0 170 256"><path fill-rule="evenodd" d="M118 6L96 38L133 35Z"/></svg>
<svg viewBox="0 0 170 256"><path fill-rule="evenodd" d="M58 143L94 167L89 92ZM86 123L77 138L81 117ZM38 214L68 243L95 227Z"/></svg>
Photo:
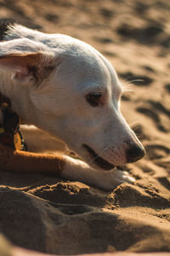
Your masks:
<svg viewBox="0 0 170 256"><path fill-rule="evenodd" d="M99 184L101 189L111 190L115 189L118 185L122 183L134 183L135 179L129 175L128 172L111 170L109 172L104 172L104 177L102 183Z"/></svg>

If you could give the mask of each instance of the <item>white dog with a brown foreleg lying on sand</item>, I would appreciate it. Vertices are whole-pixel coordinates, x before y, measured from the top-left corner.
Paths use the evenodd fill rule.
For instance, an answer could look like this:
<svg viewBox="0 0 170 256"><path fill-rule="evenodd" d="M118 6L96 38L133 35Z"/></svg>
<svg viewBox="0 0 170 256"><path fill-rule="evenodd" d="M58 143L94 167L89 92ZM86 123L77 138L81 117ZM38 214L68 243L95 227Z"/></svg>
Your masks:
<svg viewBox="0 0 170 256"><path fill-rule="evenodd" d="M18 24L3 24L0 41L0 93L25 124L28 148L1 143L1 169L51 173L106 190L133 183L116 166L141 159L144 147L122 116L124 88L111 63L81 40ZM40 154L59 147L78 157Z"/></svg>

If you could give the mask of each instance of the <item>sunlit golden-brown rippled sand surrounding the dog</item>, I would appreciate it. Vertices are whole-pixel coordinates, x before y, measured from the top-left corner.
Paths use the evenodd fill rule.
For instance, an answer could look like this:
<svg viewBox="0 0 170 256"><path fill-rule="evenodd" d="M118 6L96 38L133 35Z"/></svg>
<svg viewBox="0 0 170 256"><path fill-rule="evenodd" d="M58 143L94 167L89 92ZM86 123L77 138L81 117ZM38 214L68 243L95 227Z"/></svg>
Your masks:
<svg viewBox="0 0 170 256"><path fill-rule="evenodd" d="M136 183L110 192L2 170L0 232L17 246L14 256L31 255L18 247L54 254L170 255L169 14L167 0L0 0L2 20L80 38L111 61L129 90L122 113L147 152L123 167Z"/></svg>

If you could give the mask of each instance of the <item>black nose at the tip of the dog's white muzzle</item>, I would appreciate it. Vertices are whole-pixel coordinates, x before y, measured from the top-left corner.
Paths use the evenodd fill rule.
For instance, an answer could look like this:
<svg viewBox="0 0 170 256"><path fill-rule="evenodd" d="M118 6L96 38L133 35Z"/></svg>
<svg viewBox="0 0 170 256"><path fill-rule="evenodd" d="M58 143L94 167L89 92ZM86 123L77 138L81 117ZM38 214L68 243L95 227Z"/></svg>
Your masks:
<svg viewBox="0 0 170 256"><path fill-rule="evenodd" d="M129 147L126 151L127 163L133 163L144 157L145 151L143 147L136 144Z"/></svg>

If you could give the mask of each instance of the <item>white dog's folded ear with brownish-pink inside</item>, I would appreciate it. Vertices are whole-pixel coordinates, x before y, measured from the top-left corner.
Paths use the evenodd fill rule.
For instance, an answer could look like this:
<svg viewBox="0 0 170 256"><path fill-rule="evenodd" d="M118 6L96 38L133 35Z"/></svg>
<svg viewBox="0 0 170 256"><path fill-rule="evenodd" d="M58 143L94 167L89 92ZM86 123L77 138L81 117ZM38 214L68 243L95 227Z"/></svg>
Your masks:
<svg viewBox="0 0 170 256"><path fill-rule="evenodd" d="M0 43L0 68L23 84L40 84L53 70L54 52L27 38Z"/></svg>

